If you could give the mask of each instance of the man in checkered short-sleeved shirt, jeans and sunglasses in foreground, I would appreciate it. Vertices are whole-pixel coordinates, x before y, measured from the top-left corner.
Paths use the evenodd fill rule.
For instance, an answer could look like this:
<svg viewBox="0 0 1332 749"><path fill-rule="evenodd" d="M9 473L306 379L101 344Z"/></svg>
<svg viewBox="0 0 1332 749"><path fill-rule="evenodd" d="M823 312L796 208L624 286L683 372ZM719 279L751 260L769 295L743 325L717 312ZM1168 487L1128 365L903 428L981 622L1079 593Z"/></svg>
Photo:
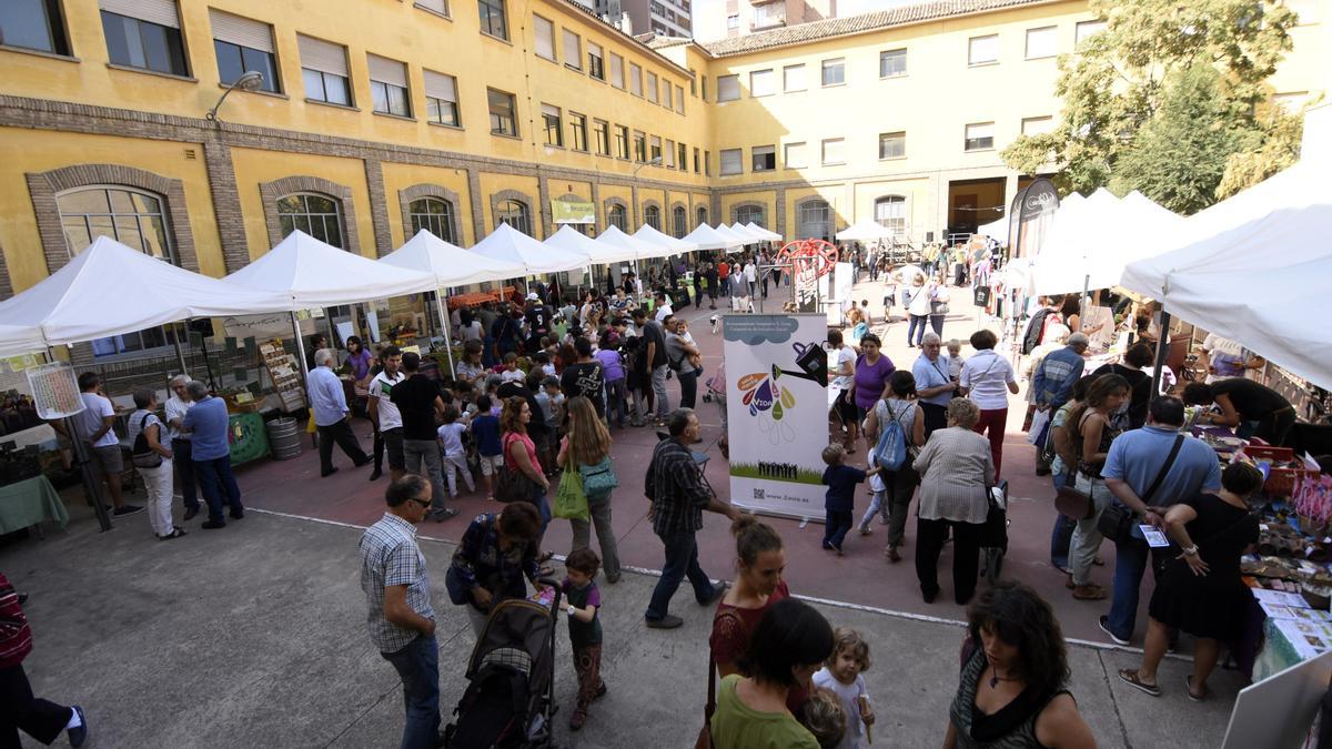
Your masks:
<svg viewBox="0 0 1332 749"><path fill-rule="evenodd" d="M440 740L440 645L434 638L430 574L416 526L430 508L430 482L409 473L384 493L389 510L361 536L361 589L370 641L402 678L402 748Z"/></svg>

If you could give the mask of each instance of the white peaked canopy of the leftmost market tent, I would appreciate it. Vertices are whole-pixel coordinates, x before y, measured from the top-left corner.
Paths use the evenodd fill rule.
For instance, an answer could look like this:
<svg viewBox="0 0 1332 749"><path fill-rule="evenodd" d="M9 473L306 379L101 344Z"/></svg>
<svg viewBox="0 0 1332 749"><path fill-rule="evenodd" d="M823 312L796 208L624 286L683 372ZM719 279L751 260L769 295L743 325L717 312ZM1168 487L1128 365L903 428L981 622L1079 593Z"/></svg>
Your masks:
<svg viewBox="0 0 1332 749"><path fill-rule="evenodd" d="M281 293L185 271L103 236L60 271L0 303L0 347L25 353L189 317L285 309Z"/></svg>

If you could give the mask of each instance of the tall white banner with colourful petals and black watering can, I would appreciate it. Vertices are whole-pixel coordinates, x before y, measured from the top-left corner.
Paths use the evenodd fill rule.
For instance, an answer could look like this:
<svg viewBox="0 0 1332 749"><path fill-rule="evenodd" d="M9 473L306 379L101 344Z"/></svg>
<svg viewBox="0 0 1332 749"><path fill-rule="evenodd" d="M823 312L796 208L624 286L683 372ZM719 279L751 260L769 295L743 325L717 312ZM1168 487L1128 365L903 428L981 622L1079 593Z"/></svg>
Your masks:
<svg viewBox="0 0 1332 749"><path fill-rule="evenodd" d="M827 317L727 315L723 337L731 502L822 518Z"/></svg>

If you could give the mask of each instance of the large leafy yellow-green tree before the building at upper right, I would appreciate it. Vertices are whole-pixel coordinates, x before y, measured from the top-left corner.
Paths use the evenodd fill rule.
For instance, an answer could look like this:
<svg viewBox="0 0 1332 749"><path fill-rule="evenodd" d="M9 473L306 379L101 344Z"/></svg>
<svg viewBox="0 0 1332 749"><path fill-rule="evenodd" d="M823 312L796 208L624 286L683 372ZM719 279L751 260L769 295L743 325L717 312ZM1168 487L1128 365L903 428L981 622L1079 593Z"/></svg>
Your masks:
<svg viewBox="0 0 1332 749"><path fill-rule="evenodd" d="M1179 212L1213 203L1227 160L1267 140L1255 112L1291 49L1295 13L1261 0L1091 0L1090 7L1107 25L1059 60L1059 125L1019 137L1004 149L1004 163L1028 175L1054 164L1062 192L1140 189ZM1209 101L1197 100L1203 92ZM1163 145L1191 167L1219 161L1193 173L1139 152Z"/></svg>

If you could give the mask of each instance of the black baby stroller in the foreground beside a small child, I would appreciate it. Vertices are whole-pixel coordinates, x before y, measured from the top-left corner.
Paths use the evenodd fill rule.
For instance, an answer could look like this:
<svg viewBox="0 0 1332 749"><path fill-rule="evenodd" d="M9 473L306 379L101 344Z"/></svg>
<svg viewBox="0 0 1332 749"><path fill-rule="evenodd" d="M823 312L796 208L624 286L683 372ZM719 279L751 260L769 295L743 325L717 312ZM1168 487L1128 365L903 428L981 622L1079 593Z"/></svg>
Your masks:
<svg viewBox="0 0 1332 749"><path fill-rule="evenodd" d="M449 749L550 746L555 714L555 612L559 584L543 578L554 598L509 598L486 620L468 661L468 690L444 729Z"/></svg>

